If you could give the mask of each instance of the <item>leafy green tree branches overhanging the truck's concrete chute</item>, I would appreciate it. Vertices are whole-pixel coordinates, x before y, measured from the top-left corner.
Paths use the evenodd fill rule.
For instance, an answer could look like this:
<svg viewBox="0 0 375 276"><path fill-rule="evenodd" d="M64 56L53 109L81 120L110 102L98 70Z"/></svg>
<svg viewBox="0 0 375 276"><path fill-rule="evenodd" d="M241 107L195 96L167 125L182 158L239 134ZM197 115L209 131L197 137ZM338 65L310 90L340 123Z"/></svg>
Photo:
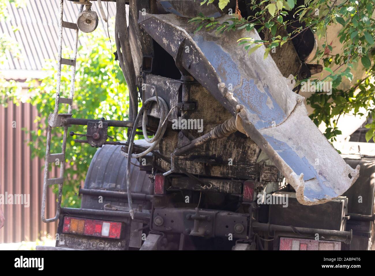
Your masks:
<svg viewBox="0 0 375 276"><path fill-rule="evenodd" d="M225 6L228 4L227 1L219 1L219 3ZM317 125L325 123L327 130L324 134L334 141L335 136L341 133L336 127L341 114L374 114L374 85L369 81L375 77L373 55L370 52L374 46L375 20L372 18L374 4L375 0L305 0L304 5L295 6L295 0L252 0L248 7L254 15L247 18L233 14L230 20L219 22L200 14L190 22L198 24L196 31L204 27L208 31L216 30L218 34L244 28L246 31L256 28L258 32L261 30L269 32L271 36L267 37L271 37L270 40L254 40L251 37L238 40L239 45L243 45L249 54L255 52L260 45L266 46L264 58L272 48L281 47L308 28L318 39L322 39L323 36L327 36L327 26L337 24L341 26L339 32L341 52L336 55L330 54L333 50L332 42L329 44L329 39L326 37L323 49L318 49L315 57L316 62L323 63L324 69L330 73L320 81L332 82L333 93L327 95L316 92L308 99L308 103L315 108L310 117ZM295 8L294 19L287 20L288 11L293 8ZM296 21L301 23L301 27L294 27L293 23ZM290 31L291 29L293 31ZM278 35L280 30L284 30L287 35L283 37ZM353 81L352 71L358 70L358 63L366 69L366 77L363 80L354 80L353 87L347 91L337 89L345 78ZM336 69L331 69L333 66L336 66ZM370 129L368 138L371 139L375 132L375 124L368 127Z"/></svg>

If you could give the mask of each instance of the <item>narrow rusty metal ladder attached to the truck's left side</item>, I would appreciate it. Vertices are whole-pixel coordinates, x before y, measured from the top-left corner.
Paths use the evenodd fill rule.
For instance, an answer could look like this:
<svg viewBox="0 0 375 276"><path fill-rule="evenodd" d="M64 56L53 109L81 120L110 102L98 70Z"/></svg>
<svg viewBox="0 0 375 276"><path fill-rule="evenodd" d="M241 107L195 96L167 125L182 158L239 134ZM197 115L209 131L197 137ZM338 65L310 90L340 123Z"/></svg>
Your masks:
<svg viewBox="0 0 375 276"><path fill-rule="evenodd" d="M62 124L62 117L72 116L72 104L74 96L74 82L75 82L75 70L76 70L76 58L77 58L77 46L78 46L78 27L76 23L63 21L63 7L64 0L60 0L60 21L59 21L59 32L58 32L58 58L57 58L57 87L56 87L56 98L55 98L55 108L54 112L49 114L48 117L48 128L47 128L47 145L46 145L46 156L44 165L44 177L43 177L43 195L42 195L42 210L41 218L43 222L54 222L60 216L61 210L61 199L62 190L64 182L64 171L65 171L65 148L66 148L66 138L68 135L68 125ZM80 6L80 12L83 10L83 5ZM73 48L73 59L62 58L62 40L63 40L63 28L70 28L75 30L74 38L74 48ZM61 65L69 65L72 67L71 70L71 85L68 98L60 97L60 84L61 84ZM58 113L60 104L68 105L68 113ZM63 144L61 153L51 153L51 130L52 127L64 127L63 133ZM48 178L48 164L57 162L60 165L60 174L57 178ZM46 206L46 196L47 188L49 185L58 184L58 199L57 199L57 209L55 217L46 219L45 217L45 206Z"/></svg>

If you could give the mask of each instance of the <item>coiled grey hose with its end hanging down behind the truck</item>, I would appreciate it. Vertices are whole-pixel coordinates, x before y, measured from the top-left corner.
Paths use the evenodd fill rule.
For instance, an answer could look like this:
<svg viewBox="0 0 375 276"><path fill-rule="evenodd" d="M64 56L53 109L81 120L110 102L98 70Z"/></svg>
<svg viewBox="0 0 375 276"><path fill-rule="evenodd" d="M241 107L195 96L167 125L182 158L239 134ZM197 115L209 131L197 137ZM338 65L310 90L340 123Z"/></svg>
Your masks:
<svg viewBox="0 0 375 276"><path fill-rule="evenodd" d="M151 102L158 102L159 108L160 108L160 121L159 121L159 126L157 127L157 131L154 135L153 138L148 138L147 136L147 130L146 130L146 121L147 121L147 112L146 110L151 107ZM132 154L133 150L133 144L134 144L134 137L135 137L135 132L136 132L136 126L138 125L139 118L141 117L141 114L143 113L143 120L142 120L142 132L145 140L149 143L152 143L147 150L138 153L138 154ZM147 153L150 153L154 148L159 145L166 127L168 124L164 124L165 119L169 115L168 113L168 105L166 102L163 100L163 98L159 96L154 96L152 98L147 99L147 101L144 102L142 105L141 109L139 110L139 113L137 114L135 121L134 121L134 126L132 128L132 132L130 133L128 142L129 142L129 148L127 150L127 164L126 164L126 192L127 192L127 201L129 204L129 213L132 219L134 219L134 211L133 211L133 201L132 201L132 193L130 191L130 160L132 158L139 158L142 156L145 156Z"/></svg>

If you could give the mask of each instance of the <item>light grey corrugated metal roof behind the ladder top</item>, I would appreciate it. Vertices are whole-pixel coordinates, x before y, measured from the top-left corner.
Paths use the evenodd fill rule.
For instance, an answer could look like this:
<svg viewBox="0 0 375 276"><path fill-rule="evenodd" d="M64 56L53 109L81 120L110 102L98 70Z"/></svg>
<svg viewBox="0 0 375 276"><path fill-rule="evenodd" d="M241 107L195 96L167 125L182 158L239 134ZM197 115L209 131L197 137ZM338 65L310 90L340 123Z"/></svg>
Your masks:
<svg viewBox="0 0 375 276"><path fill-rule="evenodd" d="M116 13L115 3L102 2L105 13L109 18ZM108 10L107 10L108 3ZM64 1L64 21L75 22L77 20L78 8L80 5L71 1ZM7 9L9 18L7 21L0 21L0 34L7 34L15 39L21 50L21 58L15 58L7 52L7 63L0 65L0 70L17 70L21 72L18 78L27 71L40 71L43 68L45 59L55 59L58 51L58 18L59 0L29 0L25 7L16 8L14 4L8 3ZM102 31L107 34L107 23L101 19L98 3L93 2L92 10L99 16L99 25L95 31ZM18 31L12 28L17 27ZM68 28L63 29L63 47L72 49L74 42L74 31Z"/></svg>

